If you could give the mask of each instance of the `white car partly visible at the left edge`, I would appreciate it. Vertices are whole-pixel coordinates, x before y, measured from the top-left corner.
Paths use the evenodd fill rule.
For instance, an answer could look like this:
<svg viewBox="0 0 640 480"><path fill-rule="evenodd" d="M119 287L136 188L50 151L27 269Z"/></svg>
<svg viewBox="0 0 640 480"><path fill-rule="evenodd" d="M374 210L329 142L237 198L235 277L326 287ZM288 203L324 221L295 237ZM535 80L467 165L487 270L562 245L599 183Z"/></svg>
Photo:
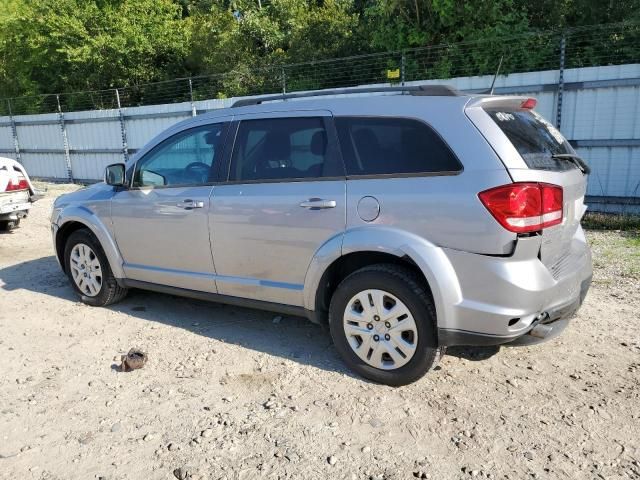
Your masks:
<svg viewBox="0 0 640 480"><path fill-rule="evenodd" d="M0 157L0 230L16 228L31 204L42 197L20 163Z"/></svg>

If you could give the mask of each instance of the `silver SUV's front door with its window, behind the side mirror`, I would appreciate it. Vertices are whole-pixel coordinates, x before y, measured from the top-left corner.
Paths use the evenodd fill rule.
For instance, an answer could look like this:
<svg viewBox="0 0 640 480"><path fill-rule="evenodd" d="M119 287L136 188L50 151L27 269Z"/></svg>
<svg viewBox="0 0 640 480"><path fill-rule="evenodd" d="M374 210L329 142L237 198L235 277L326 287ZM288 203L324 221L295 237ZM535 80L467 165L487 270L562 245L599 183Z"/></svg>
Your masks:
<svg viewBox="0 0 640 480"><path fill-rule="evenodd" d="M136 163L114 195L116 242L129 279L216 292L208 213L227 124L183 130Z"/></svg>

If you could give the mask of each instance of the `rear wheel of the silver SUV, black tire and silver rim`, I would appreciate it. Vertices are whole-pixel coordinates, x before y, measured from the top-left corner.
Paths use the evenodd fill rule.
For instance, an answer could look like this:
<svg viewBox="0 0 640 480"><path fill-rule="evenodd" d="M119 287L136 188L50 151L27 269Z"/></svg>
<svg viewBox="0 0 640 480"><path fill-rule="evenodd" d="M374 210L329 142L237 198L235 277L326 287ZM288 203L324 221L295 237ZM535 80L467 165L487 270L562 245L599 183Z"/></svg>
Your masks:
<svg viewBox="0 0 640 480"><path fill-rule="evenodd" d="M331 299L329 328L352 370L390 386L415 382L444 353L431 294L400 265L372 265L346 277Z"/></svg>

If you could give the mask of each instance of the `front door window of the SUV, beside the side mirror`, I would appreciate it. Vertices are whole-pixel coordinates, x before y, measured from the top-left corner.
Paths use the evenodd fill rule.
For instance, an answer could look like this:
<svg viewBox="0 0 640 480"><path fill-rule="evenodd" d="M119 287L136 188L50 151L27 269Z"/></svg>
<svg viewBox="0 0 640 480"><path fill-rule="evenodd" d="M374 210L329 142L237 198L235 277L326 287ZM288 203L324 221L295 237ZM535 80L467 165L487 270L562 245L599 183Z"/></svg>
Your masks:
<svg viewBox="0 0 640 480"><path fill-rule="evenodd" d="M220 161L225 124L192 128L165 140L136 164L134 187L202 185Z"/></svg>

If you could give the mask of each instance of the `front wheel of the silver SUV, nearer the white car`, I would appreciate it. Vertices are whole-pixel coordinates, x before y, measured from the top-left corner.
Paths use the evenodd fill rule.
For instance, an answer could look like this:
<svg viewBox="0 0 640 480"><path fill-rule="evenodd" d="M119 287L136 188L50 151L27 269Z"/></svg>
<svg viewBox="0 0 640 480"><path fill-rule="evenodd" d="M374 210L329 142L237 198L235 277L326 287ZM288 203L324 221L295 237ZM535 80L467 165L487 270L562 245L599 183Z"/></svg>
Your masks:
<svg viewBox="0 0 640 480"><path fill-rule="evenodd" d="M116 282L104 250L87 229L76 230L64 249L65 271L83 303L104 307L122 300L127 289Z"/></svg>

